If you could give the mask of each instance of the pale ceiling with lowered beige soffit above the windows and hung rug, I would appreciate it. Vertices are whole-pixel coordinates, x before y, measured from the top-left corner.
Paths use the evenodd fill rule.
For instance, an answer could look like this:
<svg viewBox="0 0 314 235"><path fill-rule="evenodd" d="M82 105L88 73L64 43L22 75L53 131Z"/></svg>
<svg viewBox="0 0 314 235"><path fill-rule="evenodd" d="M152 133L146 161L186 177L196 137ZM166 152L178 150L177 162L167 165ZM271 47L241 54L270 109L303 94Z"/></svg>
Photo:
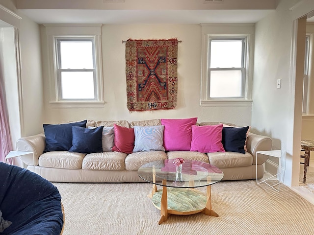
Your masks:
<svg viewBox="0 0 314 235"><path fill-rule="evenodd" d="M18 14L38 24L244 24L274 12L278 0L16 0L16 5Z"/></svg>

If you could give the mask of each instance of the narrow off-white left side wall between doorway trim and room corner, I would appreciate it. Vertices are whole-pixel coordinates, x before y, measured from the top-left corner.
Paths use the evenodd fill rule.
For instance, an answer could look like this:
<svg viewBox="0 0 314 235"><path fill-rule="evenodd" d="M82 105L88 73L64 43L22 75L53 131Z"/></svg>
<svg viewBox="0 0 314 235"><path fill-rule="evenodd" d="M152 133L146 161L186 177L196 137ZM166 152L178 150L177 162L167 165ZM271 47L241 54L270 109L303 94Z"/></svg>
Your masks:
<svg viewBox="0 0 314 235"><path fill-rule="evenodd" d="M43 122L43 79L40 27L22 13L20 21L22 136L38 134Z"/></svg>

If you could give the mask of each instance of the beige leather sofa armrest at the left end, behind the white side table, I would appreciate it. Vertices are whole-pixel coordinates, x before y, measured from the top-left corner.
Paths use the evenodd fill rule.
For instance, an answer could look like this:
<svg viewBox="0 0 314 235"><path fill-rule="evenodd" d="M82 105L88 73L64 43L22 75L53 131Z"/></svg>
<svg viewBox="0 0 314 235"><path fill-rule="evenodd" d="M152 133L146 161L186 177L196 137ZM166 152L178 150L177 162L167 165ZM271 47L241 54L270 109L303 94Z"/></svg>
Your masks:
<svg viewBox="0 0 314 235"><path fill-rule="evenodd" d="M34 157L20 156L21 160L26 165L38 165L38 158L43 154L45 146L46 138L44 133L34 136L22 137L16 141L17 151L34 153Z"/></svg>

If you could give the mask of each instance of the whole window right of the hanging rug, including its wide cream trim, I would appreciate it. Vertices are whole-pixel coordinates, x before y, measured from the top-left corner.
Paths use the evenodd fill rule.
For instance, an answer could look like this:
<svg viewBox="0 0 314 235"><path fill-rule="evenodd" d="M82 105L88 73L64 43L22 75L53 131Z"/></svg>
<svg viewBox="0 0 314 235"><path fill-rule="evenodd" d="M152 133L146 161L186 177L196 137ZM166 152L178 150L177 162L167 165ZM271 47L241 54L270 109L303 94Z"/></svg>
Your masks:
<svg viewBox="0 0 314 235"><path fill-rule="evenodd" d="M201 106L252 106L254 33L254 24L202 24Z"/></svg>

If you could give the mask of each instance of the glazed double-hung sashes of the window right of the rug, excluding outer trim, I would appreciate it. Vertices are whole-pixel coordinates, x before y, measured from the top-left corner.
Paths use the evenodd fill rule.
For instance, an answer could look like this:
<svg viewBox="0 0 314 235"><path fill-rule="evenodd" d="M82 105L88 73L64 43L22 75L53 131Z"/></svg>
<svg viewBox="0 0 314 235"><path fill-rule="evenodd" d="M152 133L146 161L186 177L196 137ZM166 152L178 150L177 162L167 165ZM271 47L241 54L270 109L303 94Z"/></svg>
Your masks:
<svg viewBox="0 0 314 235"><path fill-rule="evenodd" d="M245 38L210 38L208 98L244 98Z"/></svg>

